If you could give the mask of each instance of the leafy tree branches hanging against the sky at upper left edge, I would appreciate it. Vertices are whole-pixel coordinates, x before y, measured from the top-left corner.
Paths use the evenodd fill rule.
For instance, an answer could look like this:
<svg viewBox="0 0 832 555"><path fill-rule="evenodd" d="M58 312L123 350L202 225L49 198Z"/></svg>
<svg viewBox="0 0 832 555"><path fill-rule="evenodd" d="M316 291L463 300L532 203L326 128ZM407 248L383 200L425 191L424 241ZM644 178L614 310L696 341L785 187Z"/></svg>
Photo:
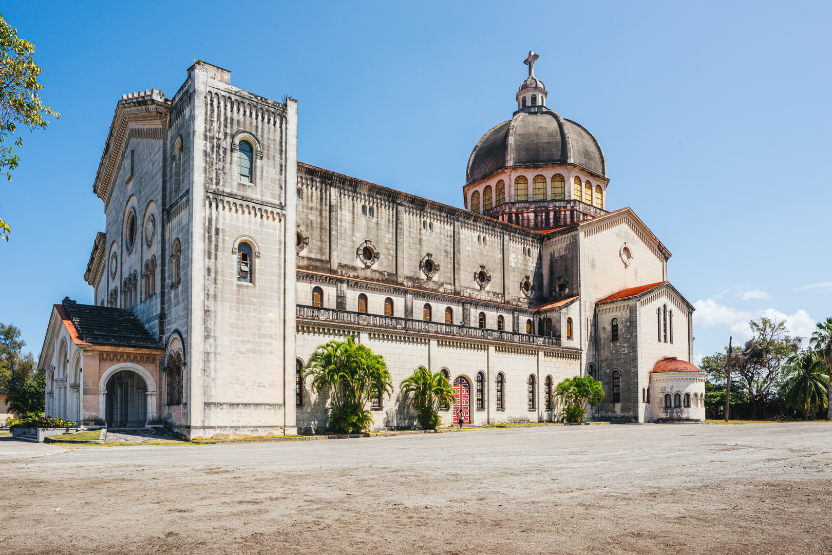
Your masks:
<svg viewBox="0 0 832 555"><path fill-rule="evenodd" d="M0 15L0 175L7 179L12 179L12 170L20 158L6 140L10 138L14 146L23 146L18 126L28 127L29 131L46 129L48 121L44 116L60 116L41 102L38 91L43 86L37 77L42 70L32 59L34 52L32 42L17 37L17 29ZM10 231L9 225L0 219L0 237L8 240Z"/></svg>

